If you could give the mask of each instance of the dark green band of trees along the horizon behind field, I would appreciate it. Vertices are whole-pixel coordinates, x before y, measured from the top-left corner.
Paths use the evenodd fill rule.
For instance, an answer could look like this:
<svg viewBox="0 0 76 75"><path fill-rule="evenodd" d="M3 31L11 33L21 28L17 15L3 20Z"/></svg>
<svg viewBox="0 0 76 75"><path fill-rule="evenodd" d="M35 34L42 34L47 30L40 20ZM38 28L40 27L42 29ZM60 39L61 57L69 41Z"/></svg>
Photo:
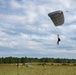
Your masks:
<svg viewBox="0 0 76 75"><path fill-rule="evenodd" d="M34 62L46 62L46 63L76 63L76 59L65 58L28 58L28 57L1 57L0 64L2 63L34 63Z"/></svg>

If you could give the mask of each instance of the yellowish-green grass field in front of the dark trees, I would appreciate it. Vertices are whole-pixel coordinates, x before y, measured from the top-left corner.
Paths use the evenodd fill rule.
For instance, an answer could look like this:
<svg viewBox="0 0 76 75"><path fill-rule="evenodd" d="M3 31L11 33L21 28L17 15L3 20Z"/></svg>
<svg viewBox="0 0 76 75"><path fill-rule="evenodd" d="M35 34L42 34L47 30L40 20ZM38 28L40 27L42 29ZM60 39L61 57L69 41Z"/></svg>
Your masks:
<svg viewBox="0 0 76 75"><path fill-rule="evenodd" d="M76 75L76 66L0 64L0 75Z"/></svg>

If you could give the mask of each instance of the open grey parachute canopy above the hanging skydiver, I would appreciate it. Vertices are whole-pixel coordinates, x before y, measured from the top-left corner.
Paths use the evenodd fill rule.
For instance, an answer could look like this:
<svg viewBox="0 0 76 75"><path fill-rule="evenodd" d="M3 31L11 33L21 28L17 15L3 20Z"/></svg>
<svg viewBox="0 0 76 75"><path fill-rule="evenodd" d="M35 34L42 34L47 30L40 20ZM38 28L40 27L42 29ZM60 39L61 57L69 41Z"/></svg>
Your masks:
<svg viewBox="0 0 76 75"><path fill-rule="evenodd" d="M63 25L64 23L64 14L60 11L51 12L48 14L48 16L51 18L55 26Z"/></svg>

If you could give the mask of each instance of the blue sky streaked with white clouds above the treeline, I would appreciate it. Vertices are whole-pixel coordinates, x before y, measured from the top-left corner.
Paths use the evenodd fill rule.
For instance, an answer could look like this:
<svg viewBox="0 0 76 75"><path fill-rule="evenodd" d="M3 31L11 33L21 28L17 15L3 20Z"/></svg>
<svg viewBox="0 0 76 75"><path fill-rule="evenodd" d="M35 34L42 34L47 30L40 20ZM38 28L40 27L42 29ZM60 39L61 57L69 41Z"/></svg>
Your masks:
<svg viewBox="0 0 76 75"><path fill-rule="evenodd" d="M55 27L57 10L65 22ZM76 0L0 0L0 57L9 56L76 59Z"/></svg>

